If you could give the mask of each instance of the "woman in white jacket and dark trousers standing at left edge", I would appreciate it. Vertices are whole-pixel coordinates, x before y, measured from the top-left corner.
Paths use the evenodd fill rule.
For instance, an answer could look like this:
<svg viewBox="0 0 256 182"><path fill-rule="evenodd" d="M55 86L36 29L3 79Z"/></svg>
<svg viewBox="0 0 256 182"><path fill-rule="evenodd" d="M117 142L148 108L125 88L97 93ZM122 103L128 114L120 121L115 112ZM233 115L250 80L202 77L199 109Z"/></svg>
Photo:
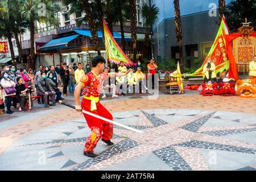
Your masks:
<svg viewBox="0 0 256 182"><path fill-rule="evenodd" d="M13 100L13 96L15 96L15 92L11 94L6 94L5 88L15 87L15 82L13 80L10 80L8 77L9 75L7 73L4 73L1 78L1 85L3 88L3 92L5 93L5 98L7 99L7 114L13 114L14 111L11 111L11 101Z"/></svg>

